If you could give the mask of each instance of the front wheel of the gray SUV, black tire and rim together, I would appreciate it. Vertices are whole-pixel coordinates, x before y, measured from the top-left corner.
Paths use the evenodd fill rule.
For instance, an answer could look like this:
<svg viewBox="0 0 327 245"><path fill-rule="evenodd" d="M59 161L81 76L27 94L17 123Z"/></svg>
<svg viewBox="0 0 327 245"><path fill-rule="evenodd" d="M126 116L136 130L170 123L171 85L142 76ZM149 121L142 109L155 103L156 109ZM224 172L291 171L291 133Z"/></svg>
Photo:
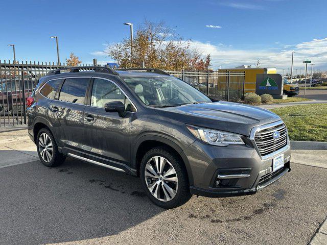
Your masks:
<svg viewBox="0 0 327 245"><path fill-rule="evenodd" d="M148 151L141 161L140 176L146 194L157 206L176 208L192 197L185 166L168 148Z"/></svg>

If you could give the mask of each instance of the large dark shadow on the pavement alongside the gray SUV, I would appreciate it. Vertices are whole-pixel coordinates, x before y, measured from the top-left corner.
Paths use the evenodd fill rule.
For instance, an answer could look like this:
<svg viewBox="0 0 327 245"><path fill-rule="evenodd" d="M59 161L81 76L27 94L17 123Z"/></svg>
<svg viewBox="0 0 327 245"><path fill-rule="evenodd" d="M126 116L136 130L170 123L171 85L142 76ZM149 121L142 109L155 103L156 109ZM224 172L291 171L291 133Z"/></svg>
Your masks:
<svg viewBox="0 0 327 245"><path fill-rule="evenodd" d="M0 169L0 244L39 244L118 234L164 211L138 178L67 158Z"/></svg>

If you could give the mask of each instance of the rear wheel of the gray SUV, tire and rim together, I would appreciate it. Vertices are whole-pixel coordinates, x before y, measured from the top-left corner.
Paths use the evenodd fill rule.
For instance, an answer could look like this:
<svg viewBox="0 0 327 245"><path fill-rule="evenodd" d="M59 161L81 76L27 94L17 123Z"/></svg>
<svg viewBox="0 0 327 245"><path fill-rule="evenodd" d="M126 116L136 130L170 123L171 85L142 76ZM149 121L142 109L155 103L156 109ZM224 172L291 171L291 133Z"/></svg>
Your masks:
<svg viewBox="0 0 327 245"><path fill-rule="evenodd" d="M65 156L58 151L58 146L50 130L40 129L36 140L37 154L44 166L56 167L62 164Z"/></svg>

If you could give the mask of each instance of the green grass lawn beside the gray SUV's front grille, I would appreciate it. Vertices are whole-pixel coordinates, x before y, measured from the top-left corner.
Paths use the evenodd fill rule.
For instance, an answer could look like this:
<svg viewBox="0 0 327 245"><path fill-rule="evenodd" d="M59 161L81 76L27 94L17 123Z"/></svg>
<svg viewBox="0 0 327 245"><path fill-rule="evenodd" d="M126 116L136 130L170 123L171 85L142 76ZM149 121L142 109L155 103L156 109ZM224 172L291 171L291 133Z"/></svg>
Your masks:
<svg viewBox="0 0 327 245"><path fill-rule="evenodd" d="M290 140L327 141L327 104L272 109L285 122Z"/></svg>

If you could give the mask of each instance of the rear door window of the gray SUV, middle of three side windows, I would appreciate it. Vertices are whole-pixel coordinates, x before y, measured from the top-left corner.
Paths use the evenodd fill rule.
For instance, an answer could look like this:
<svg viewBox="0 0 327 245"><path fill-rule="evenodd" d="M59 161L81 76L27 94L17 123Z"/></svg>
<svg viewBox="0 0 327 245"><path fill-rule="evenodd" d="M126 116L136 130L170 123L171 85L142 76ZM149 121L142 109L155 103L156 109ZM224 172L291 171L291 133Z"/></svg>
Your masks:
<svg viewBox="0 0 327 245"><path fill-rule="evenodd" d="M59 100L76 104L84 104L89 78L65 79L59 94Z"/></svg>

